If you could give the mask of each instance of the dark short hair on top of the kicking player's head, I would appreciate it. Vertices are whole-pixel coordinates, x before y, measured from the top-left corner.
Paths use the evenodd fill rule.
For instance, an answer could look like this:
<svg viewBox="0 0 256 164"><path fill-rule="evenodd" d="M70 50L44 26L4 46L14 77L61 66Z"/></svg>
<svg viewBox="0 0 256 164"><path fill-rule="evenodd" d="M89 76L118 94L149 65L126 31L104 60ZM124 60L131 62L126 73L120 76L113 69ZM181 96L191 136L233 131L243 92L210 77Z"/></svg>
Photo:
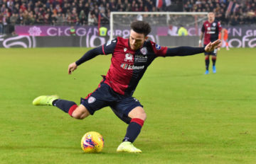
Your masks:
<svg viewBox="0 0 256 164"><path fill-rule="evenodd" d="M136 33L149 35L151 32L151 27L149 23L146 23L145 21L134 21L131 24L132 30L134 30Z"/></svg>

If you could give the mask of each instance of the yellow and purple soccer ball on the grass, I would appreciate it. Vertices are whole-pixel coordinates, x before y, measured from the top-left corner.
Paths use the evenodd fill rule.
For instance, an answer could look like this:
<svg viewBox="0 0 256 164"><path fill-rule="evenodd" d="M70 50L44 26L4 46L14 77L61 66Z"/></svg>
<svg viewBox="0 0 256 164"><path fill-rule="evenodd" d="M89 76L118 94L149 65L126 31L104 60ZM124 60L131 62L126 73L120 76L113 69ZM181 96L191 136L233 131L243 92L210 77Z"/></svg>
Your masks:
<svg viewBox="0 0 256 164"><path fill-rule="evenodd" d="M99 153L104 146L104 139L96 131L89 131L81 139L81 148L85 153Z"/></svg>

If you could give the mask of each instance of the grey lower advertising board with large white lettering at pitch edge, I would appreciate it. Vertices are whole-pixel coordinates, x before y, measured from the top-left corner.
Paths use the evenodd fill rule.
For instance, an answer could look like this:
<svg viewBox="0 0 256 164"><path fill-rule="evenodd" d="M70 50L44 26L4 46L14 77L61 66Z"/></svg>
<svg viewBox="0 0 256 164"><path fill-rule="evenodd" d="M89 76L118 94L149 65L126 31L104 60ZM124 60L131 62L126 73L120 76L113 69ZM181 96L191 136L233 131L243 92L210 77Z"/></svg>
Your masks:
<svg viewBox="0 0 256 164"><path fill-rule="evenodd" d="M109 37L33 37L33 36L0 36L0 47L97 47L103 45L109 40ZM157 39L157 43L161 46L176 47L176 46L198 46L197 36L188 37L164 37ZM230 37L230 47L256 47L256 37Z"/></svg>

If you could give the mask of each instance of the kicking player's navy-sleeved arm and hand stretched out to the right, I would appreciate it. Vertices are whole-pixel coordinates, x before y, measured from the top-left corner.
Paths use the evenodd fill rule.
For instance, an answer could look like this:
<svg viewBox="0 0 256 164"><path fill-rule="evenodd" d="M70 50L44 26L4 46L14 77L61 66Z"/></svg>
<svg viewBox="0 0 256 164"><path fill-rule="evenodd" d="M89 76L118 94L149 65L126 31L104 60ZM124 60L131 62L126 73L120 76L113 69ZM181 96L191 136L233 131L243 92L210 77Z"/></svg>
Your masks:
<svg viewBox="0 0 256 164"><path fill-rule="evenodd" d="M215 42L210 42L206 47L175 47L169 48L166 52L166 57L174 57L174 56L188 56L193 54L200 54L203 52L212 52L214 49L218 48L220 44L220 40L216 40Z"/></svg>

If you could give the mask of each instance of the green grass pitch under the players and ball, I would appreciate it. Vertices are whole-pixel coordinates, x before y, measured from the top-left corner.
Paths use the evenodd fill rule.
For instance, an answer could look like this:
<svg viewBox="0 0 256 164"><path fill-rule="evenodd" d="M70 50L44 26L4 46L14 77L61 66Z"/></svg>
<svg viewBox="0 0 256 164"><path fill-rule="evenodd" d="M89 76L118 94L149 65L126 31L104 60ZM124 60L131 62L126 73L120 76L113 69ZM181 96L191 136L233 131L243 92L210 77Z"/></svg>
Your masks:
<svg viewBox="0 0 256 164"><path fill-rule="evenodd" d="M256 163L256 49L221 49L217 74L210 69L208 75L203 54L156 59L134 93L147 113L134 142L141 154L116 153L127 124L109 107L78 120L56 107L32 105L50 94L79 103L95 90L111 55L68 76L68 64L86 51L0 49L1 164ZM82 153L87 131L102 134L102 153Z"/></svg>

